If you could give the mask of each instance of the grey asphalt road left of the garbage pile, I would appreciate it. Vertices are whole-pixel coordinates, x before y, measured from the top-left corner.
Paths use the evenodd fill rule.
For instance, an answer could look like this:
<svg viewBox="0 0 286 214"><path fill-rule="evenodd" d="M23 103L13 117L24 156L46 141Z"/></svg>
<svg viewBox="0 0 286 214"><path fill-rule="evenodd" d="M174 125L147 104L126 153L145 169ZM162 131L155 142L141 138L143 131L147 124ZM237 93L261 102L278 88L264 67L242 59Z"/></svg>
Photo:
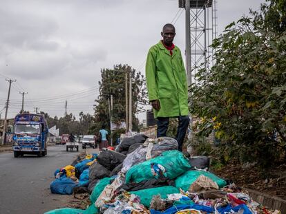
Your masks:
<svg viewBox="0 0 286 214"><path fill-rule="evenodd" d="M79 152L59 145L48 147L48 156L41 158L0 153L0 213L44 213L66 206L72 196L50 193L50 182L55 169L71 164Z"/></svg>

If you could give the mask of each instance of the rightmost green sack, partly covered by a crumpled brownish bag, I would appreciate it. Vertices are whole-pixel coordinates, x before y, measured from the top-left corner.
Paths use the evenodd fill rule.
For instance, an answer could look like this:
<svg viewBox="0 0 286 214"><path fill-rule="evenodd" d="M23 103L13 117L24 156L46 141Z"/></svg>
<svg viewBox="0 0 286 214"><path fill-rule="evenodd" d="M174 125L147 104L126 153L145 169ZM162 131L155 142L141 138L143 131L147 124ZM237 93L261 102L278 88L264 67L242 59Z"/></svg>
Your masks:
<svg viewBox="0 0 286 214"><path fill-rule="evenodd" d="M189 186L191 186L191 184L193 184L193 182L195 182L197 178L200 177L200 175L204 175L206 177L211 178L211 180L216 182L220 188L227 185L227 182L225 180L223 180L222 178L219 178L213 173L210 173L209 171L191 170L191 171L187 171L186 173L176 178L175 187L177 187L178 189L181 188L182 190L187 191L189 189Z"/></svg>

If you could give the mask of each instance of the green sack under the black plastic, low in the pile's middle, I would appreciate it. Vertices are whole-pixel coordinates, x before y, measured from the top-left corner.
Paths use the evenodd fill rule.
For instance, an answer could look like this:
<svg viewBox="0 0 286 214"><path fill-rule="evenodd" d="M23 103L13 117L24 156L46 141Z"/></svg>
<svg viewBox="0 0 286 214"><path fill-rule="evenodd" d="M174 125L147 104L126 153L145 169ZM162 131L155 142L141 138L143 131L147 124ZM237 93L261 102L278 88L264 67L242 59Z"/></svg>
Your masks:
<svg viewBox="0 0 286 214"><path fill-rule="evenodd" d="M149 208L150 202L154 195L160 194L162 199L166 199L168 194L180 193L180 191L174 186L161 186L151 189L133 191L130 193L139 196L140 203Z"/></svg>

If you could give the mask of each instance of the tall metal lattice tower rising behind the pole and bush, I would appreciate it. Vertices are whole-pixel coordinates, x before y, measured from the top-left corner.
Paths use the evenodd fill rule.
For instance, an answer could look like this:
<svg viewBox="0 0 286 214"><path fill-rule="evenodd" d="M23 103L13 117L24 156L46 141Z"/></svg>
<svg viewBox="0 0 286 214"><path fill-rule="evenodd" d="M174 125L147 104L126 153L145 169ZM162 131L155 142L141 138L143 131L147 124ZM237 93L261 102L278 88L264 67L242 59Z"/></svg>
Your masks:
<svg viewBox="0 0 286 214"><path fill-rule="evenodd" d="M189 0L190 1L190 44L191 61L189 65L191 82L196 83L195 75L199 67L209 69L213 65L213 50L211 45L217 36L217 0ZM179 0L179 8L186 8L186 0ZM186 19L187 20L187 19Z"/></svg>

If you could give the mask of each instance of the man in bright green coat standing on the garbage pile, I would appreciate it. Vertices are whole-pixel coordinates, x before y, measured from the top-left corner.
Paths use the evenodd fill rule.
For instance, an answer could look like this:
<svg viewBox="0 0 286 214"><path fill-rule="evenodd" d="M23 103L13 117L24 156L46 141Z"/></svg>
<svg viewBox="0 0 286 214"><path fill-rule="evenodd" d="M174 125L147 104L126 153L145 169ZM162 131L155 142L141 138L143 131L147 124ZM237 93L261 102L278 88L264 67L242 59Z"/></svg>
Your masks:
<svg viewBox="0 0 286 214"><path fill-rule="evenodd" d="M153 45L146 61L149 101L157 118L157 137L166 136L169 118L178 118L179 151L189 126L188 84L180 49L173 44L175 27L166 24L162 40Z"/></svg>

